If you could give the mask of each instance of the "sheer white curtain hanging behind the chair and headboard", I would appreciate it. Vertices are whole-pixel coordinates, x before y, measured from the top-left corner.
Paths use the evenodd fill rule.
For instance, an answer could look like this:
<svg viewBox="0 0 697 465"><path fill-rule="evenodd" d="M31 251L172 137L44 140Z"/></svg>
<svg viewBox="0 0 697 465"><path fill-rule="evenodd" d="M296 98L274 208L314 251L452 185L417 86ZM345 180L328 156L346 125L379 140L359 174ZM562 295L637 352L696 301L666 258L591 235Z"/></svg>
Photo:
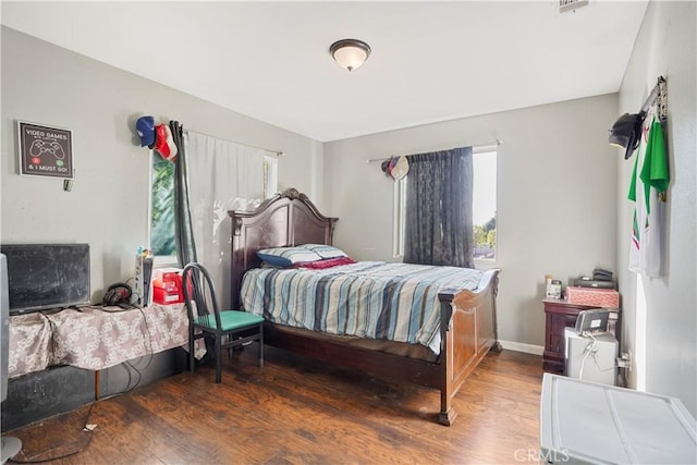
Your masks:
<svg viewBox="0 0 697 465"><path fill-rule="evenodd" d="M221 308L230 305L231 220L277 189L276 154L188 131L189 200L198 261L211 274Z"/></svg>

